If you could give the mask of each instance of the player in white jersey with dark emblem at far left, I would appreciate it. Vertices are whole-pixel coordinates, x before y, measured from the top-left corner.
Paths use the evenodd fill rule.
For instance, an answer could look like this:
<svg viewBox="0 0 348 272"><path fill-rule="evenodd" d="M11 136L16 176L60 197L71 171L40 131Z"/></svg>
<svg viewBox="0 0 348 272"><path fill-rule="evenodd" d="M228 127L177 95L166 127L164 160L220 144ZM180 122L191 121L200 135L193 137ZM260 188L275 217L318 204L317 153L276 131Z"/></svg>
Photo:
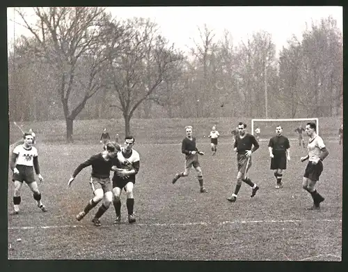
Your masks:
<svg viewBox="0 0 348 272"><path fill-rule="evenodd" d="M40 174L40 167L38 162L38 150L33 146L33 136L31 133L24 133L24 144L16 146L13 149L12 160L10 167L13 170L13 182L15 185L13 193L14 211L12 214L19 213L19 204L21 203L20 189L23 181L28 184L33 192L33 198L38 203L38 207L42 211L47 211L46 207L41 202L41 193L38 190L38 183L35 181L33 168L38 175L38 179L43 181Z"/></svg>

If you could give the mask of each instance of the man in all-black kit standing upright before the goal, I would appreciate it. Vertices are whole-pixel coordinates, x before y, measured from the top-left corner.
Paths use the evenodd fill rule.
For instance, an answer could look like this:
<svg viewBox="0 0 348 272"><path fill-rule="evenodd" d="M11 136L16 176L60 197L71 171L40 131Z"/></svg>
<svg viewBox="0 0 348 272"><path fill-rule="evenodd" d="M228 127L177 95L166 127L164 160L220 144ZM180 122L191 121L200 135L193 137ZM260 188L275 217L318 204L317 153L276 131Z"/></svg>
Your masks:
<svg viewBox="0 0 348 272"><path fill-rule="evenodd" d="M283 170L286 169L287 160L290 160L290 142L283 136L283 128L276 127L276 136L269 139L269 157L271 157L271 169L276 177L276 189L283 188Z"/></svg>

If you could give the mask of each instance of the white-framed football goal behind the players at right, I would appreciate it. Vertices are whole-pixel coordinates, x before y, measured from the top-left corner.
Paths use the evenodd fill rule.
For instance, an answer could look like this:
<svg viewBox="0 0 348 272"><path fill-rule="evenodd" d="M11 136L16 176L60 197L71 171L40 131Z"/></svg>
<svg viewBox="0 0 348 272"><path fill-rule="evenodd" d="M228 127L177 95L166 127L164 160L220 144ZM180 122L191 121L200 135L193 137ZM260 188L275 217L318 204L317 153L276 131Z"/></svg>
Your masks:
<svg viewBox="0 0 348 272"><path fill-rule="evenodd" d="M260 129L260 139L269 140L276 135L276 127L283 128L283 135L290 140L298 139L296 128L301 126L306 129L306 124L313 122L317 125L317 135L319 135L319 119L317 118L303 118L303 119L252 119L251 120L251 134L255 135L255 130ZM306 137L306 132L303 131L303 137Z"/></svg>

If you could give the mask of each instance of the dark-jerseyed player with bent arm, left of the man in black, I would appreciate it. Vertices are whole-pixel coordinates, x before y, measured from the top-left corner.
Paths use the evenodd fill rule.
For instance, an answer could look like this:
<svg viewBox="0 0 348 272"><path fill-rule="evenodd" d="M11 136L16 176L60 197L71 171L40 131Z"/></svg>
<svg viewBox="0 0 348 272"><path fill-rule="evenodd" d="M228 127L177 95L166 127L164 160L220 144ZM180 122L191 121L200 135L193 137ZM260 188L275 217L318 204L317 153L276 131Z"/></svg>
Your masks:
<svg viewBox="0 0 348 272"><path fill-rule="evenodd" d="M235 138L235 152L237 152L237 164L238 164L238 174L237 174L237 185L235 192L232 193L231 197L228 197L229 202L235 202L237 200L237 195L239 189L242 186L242 181L244 181L248 186L251 186L251 197L254 197L256 192L259 190L259 186L253 183L251 179L246 176L248 169L251 167L251 154L258 150L259 144L255 137L249 133L246 133L246 123L238 123L239 133ZM253 148L251 148L253 146Z"/></svg>

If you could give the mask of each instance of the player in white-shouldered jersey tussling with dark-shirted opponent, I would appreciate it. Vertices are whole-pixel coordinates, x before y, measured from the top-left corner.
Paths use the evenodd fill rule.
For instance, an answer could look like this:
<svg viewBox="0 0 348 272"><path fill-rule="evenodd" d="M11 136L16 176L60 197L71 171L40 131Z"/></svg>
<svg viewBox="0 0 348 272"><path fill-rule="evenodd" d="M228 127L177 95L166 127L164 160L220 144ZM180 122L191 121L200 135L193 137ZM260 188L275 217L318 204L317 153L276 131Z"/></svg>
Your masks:
<svg viewBox="0 0 348 272"><path fill-rule="evenodd" d="M133 149L135 139L133 136L125 137L125 144L121 151L116 155L116 169L112 179L112 192L113 192L113 206L116 211L116 220L114 224L118 224L121 221L121 200L120 195L122 189L125 190L127 195L127 211L128 222L136 222L134 216L134 195L133 188L135 185L135 177L140 169L140 156L137 151Z"/></svg>

